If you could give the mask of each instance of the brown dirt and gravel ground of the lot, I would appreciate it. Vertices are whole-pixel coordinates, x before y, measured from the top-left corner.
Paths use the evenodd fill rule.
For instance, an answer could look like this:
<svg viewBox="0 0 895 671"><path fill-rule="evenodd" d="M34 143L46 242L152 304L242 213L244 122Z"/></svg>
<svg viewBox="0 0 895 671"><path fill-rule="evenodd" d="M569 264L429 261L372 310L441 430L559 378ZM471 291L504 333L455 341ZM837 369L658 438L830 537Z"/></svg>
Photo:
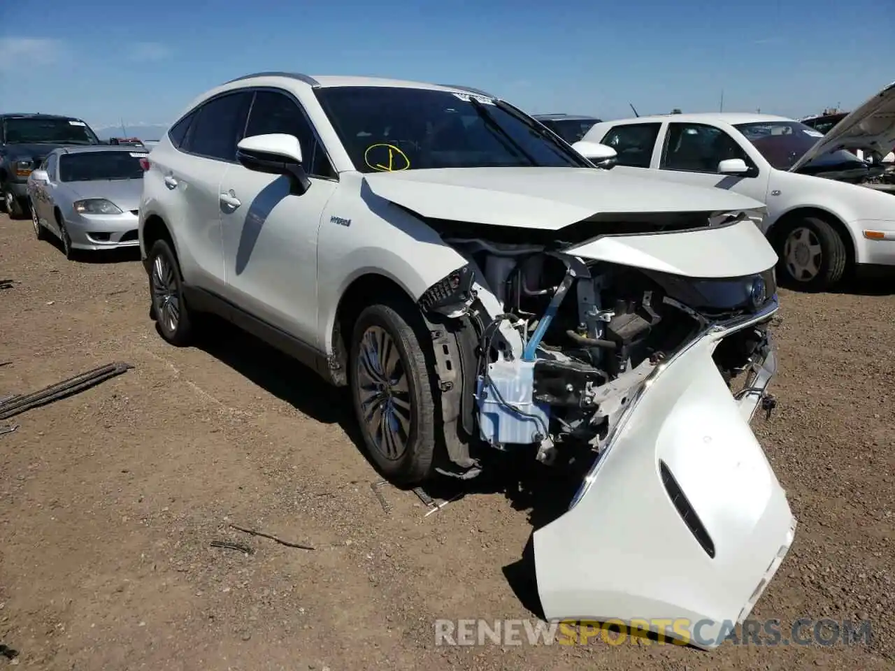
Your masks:
<svg viewBox="0 0 895 671"><path fill-rule="evenodd" d="M782 293L779 406L754 420L799 528L753 617L784 632L869 618L873 640L711 653L599 636L437 646L437 618L533 617L520 557L560 483L482 482L426 517L412 492L381 488L387 514L343 399L228 327L204 349L165 344L136 254L66 261L30 221L0 216L0 280L0 396L134 366L0 421L19 424L0 436L0 667L895 667L891 276Z"/></svg>

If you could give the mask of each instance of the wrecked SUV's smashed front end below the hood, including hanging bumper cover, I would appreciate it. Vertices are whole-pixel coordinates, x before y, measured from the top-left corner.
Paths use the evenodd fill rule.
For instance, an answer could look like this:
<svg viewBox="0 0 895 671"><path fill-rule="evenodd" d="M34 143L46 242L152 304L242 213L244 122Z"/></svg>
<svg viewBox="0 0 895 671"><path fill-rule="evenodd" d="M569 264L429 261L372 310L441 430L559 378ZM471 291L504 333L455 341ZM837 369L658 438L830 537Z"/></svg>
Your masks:
<svg viewBox="0 0 895 671"><path fill-rule="evenodd" d="M435 223L468 263L420 306L458 429L451 474L478 470L470 443L593 459L567 513L534 534L545 616L645 622L712 648L796 522L749 428L772 407L776 255L744 214L691 215L554 244Z"/></svg>

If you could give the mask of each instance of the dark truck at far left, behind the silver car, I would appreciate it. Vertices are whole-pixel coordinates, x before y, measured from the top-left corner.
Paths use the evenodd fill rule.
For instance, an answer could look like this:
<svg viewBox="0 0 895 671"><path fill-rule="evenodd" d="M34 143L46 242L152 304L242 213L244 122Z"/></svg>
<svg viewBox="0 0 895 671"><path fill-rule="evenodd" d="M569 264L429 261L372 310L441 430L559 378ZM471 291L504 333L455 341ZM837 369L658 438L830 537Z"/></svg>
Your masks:
<svg viewBox="0 0 895 671"><path fill-rule="evenodd" d="M100 144L87 123L64 115L0 115L0 206L13 218L28 212L31 171L53 149Z"/></svg>

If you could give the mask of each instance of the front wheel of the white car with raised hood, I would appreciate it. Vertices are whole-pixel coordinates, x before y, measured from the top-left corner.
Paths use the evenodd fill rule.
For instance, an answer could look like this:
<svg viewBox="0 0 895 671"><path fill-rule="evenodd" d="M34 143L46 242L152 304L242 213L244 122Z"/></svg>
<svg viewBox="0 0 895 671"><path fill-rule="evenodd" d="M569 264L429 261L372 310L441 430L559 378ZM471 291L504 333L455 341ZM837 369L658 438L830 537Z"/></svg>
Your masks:
<svg viewBox="0 0 895 671"><path fill-rule="evenodd" d="M780 231L778 270L797 289L824 291L845 275L848 247L839 232L818 217L805 217Z"/></svg>

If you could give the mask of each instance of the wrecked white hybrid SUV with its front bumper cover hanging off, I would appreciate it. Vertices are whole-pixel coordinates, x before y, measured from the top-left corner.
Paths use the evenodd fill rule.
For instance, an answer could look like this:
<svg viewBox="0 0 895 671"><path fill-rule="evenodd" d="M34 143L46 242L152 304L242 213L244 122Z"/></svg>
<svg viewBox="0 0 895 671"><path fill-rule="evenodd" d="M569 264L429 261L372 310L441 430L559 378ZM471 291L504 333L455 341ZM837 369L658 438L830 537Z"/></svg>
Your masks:
<svg viewBox="0 0 895 671"><path fill-rule="evenodd" d="M598 454L534 534L551 619L713 647L749 613L796 524L749 428L775 371L761 203L594 166L482 91L283 72L196 99L147 168L168 342L215 312L349 386L398 484Z"/></svg>

